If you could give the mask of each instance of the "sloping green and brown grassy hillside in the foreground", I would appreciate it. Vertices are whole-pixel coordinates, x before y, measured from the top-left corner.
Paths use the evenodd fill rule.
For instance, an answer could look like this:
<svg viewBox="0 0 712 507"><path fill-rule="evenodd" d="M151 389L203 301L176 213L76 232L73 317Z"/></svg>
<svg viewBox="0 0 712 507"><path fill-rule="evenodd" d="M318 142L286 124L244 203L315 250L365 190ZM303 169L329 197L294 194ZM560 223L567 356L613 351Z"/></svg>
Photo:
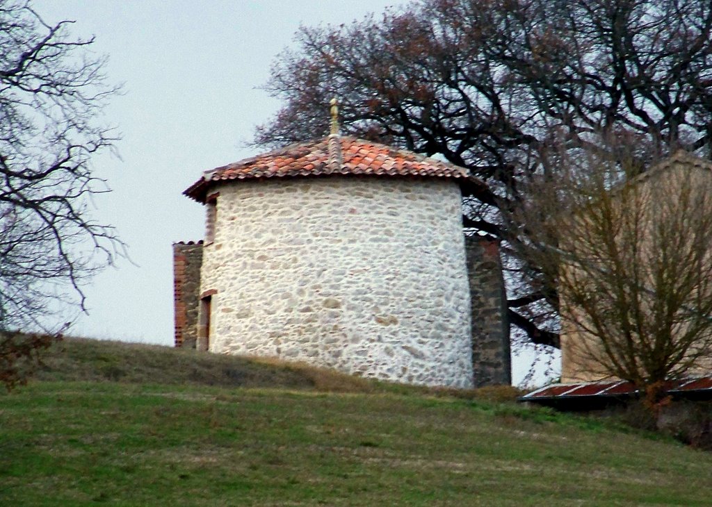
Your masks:
<svg viewBox="0 0 712 507"><path fill-rule="evenodd" d="M0 395L0 505L712 501L712 454L597 420L169 348L65 349Z"/></svg>

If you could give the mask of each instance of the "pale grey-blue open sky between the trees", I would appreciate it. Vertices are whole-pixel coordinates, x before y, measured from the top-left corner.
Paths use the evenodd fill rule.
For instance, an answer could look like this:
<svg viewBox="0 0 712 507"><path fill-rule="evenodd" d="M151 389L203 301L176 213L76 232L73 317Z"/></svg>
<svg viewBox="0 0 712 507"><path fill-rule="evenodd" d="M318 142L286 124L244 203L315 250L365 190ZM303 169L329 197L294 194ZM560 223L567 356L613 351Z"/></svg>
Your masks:
<svg viewBox="0 0 712 507"><path fill-rule="evenodd" d="M300 24L348 23L402 3L36 0L46 21L72 19L74 34L96 36L110 82L125 90L106 111L122 137L121 158L93 159L112 188L95 198L95 217L115 225L136 265L119 260L94 279L89 314L71 333L172 344L171 244L203 236L203 210L184 188L206 169L255 154L245 144L279 105L258 87ZM519 361L515 380L523 368Z"/></svg>

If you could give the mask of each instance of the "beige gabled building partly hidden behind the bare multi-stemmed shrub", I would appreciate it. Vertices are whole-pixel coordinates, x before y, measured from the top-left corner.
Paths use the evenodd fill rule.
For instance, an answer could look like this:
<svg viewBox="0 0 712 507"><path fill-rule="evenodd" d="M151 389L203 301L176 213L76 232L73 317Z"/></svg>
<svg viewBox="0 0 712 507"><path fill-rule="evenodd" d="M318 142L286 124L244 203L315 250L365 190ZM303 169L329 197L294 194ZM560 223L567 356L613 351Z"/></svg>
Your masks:
<svg viewBox="0 0 712 507"><path fill-rule="evenodd" d="M627 191L624 191L625 189ZM620 333L619 327L609 326L611 331L609 331L610 338L607 343L610 350L606 351L599 338L604 335L602 333L595 335L590 331L602 328L597 328L596 324L592 324L589 318L590 313L587 314L580 306L573 303L571 294L565 288L560 287L561 380L563 383L611 379L612 373L609 365L612 364L612 360L610 355L616 356L617 361L624 361L632 357L642 361L642 358L646 356L659 357L661 353L667 353L672 357L681 350L679 343L689 343L691 336L687 333L690 323L700 319L705 321L709 319L706 310L701 310L701 306L708 308L706 302L710 301L712 297L712 276L709 264L712 262L712 252L708 249L708 245L710 245L710 240L706 236L708 226L704 225L708 223L708 220L703 222L700 217L707 215L708 210L712 208L710 196L712 196L712 163L685 151L678 151L669 159L653 166L649 171L613 189L612 204L607 208L608 213L624 213L629 215L629 219L626 222L627 225L621 225L617 234L611 234L610 238L618 243L619 252L617 255L625 258L628 265L636 267L637 278L632 276L632 272L629 273L631 273L631 279L641 281L641 288L638 292L642 303L637 307L645 308L645 305L648 304L650 308L644 314L637 315L643 324L640 329L646 331L645 338L648 338L648 341L640 341L638 321L632 319L634 324L632 324L629 333L634 338L633 343L626 343L627 338L624 338ZM572 224L579 224L577 225L579 230L585 231L587 227L590 227L591 219L585 216L580 218L575 222L572 221ZM597 225L600 226L600 223ZM575 231L573 225L567 230ZM661 235L661 230L669 232L666 235ZM570 232L569 235L573 235L579 241L581 238L587 237L580 232ZM697 238L693 243L694 236L705 237ZM602 235L595 232L590 235L590 238L598 241ZM567 241L567 238L564 238L564 241ZM575 243L568 247L574 252L581 247L587 248L586 251L596 251L591 248L590 242L584 242L583 246ZM664 252L664 247L669 247L670 252ZM705 250L707 253L705 254L703 251L703 255L708 256L709 260L700 267L691 269L685 262L693 262L692 265L695 265L694 262L698 260L698 257L694 255L686 257L686 255L696 250L699 251L699 249L707 249ZM602 251L604 252L602 254L603 265L610 265L612 257L607 256L604 250ZM682 252L687 252L687 254L684 255ZM593 257L590 253L588 255ZM577 255L577 257L582 257L582 255ZM672 260L666 262L666 258ZM681 269L671 269L678 265ZM575 270L575 266L564 266L562 276L567 274L570 276L572 272L575 273ZM665 279L665 277L670 277L673 271L676 272L675 279L682 280L681 283ZM585 272L579 275L580 284L587 283L586 276ZM683 277L686 280L683 280ZM676 303L674 300L665 304L663 308L675 309L674 313L671 312L661 322L655 321L653 318L656 311L653 307L655 297L681 298L682 304ZM600 301L589 304L592 304L597 311L600 311L598 309L602 307L605 308L603 305L612 306L612 311L620 311L621 303L618 301L624 301L624 299L604 295ZM678 304L679 306L676 306ZM632 312L632 310L629 311ZM651 340L650 337L654 336L654 333L650 329L645 329L645 326L662 326L662 329L668 329L666 328L668 325L671 336L667 341ZM689 364L686 364L687 361L682 359L677 359L676 363L686 364L686 375L709 375L712 372L712 355L708 356L708 351L712 349L710 331L705 328L697 336L693 336L693 338L698 340L698 345L691 346L691 348L697 348L696 354L699 356Z"/></svg>

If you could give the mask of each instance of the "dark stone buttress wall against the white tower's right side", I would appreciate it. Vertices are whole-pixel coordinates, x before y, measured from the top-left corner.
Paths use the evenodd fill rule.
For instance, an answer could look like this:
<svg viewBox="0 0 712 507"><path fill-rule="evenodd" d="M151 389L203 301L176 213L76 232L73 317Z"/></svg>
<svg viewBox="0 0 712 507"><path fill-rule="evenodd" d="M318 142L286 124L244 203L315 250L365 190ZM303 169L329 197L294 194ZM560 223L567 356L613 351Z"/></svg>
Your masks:
<svg viewBox="0 0 712 507"><path fill-rule="evenodd" d="M467 236L465 250L472 309L472 369L475 387L512 383L507 297L499 245Z"/></svg>

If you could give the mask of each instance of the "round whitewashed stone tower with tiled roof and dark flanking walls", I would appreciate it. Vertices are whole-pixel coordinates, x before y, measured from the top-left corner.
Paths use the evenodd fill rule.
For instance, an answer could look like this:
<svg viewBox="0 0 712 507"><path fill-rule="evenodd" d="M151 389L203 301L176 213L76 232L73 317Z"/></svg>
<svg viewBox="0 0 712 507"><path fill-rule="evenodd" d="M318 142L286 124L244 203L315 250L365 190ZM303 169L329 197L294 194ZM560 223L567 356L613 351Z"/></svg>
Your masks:
<svg viewBox="0 0 712 507"><path fill-rule="evenodd" d="M206 238L174 245L176 346L420 385L509 383L498 245L466 241L465 181L338 134L207 171L184 192L206 207Z"/></svg>

